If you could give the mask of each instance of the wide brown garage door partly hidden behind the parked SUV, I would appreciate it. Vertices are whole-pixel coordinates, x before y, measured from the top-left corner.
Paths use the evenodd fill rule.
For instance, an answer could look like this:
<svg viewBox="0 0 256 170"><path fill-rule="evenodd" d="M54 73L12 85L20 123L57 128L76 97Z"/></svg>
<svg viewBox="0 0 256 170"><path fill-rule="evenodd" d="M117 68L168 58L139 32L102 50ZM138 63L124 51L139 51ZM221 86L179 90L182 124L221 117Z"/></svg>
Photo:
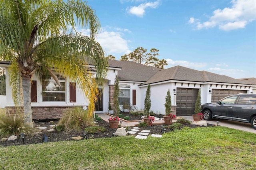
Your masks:
<svg viewBox="0 0 256 170"><path fill-rule="evenodd" d="M237 95L239 93L246 93L246 90L220 90L220 89L212 89L212 102L219 101L224 97L230 95Z"/></svg>

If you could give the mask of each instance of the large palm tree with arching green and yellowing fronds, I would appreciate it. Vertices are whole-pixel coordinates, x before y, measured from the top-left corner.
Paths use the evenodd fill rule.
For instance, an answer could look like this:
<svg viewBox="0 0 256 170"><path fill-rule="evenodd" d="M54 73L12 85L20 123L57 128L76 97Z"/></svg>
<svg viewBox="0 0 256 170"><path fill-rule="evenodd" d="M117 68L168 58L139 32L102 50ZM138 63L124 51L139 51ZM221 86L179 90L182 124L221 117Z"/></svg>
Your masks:
<svg viewBox="0 0 256 170"><path fill-rule="evenodd" d="M88 27L90 36L77 33L78 26ZM106 76L108 66L104 51L94 38L99 29L98 17L86 2L0 1L0 57L11 63L12 96L15 105L24 106L25 123L33 127L31 77L37 74L44 79L48 72L60 84L54 71L84 87L92 115L98 93L96 84ZM89 62L95 65L95 79L86 69Z"/></svg>

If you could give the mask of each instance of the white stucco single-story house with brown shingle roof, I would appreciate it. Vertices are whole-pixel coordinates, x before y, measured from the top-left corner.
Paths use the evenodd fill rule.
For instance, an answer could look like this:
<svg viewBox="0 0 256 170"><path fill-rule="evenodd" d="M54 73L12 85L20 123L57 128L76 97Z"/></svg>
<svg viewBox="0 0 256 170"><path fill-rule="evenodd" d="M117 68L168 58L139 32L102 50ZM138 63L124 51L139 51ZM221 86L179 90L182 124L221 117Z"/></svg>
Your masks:
<svg viewBox="0 0 256 170"><path fill-rule="evenodd" d="M251 93L256 89L255 78L245 81L182 66L159 69L133 61L108 60L108 64L108 74L104 77L106 81L99 87L102 93L95 103L96 113L108 112L116 75L120 84L120 103L127 102L138 110L143 110L146 89L150 84L151 110L158 114L165 114L164 103L168 89L171 92L172 111L178 116L194 114L199 90L202 103L208 103L232 94ZM8 62L1 61L1 67L6 69L6 108L10 109L14 108L14 103L12 87L9 85L9 66ZM79 85L62 75L58 75L58 79L62 87L58 87L53 79L41 82L36 75L32 77L33 119L57 119L69 107L88 105L88 101L80 93Z"/></svg>

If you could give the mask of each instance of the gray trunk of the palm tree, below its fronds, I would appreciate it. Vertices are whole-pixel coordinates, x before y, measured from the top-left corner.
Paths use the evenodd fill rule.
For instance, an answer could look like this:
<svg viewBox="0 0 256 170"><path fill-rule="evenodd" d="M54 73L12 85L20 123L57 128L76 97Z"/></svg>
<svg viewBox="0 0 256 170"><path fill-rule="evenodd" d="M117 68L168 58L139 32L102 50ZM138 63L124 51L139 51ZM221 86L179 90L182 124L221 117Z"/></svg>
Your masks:
<svg viewBox="0 0 256 170"><path fill-rule="evenodd" d="M22 89L23 89L23 99L24 99L24 121L25 121L25 124L28 124L30 127L33 127L30 78L22 77Z"/></svg>

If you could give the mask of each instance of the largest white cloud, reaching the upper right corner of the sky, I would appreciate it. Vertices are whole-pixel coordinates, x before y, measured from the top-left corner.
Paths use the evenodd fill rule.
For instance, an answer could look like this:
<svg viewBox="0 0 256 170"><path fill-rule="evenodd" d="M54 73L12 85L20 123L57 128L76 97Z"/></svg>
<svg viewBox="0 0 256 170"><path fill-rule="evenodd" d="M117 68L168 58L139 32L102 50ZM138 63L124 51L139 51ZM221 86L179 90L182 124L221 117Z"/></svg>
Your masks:
<svg viewBox="0 0 256 170"><path fill-rule="evenodd" d="M196 22L195 18L190 18L190 24L195 24L198 30L203 28L213 28L218 26L220 30L229 31L245 28L246 24L256 19L255 0L232 0L231 8L217 9L206 22Z"/></svg>

